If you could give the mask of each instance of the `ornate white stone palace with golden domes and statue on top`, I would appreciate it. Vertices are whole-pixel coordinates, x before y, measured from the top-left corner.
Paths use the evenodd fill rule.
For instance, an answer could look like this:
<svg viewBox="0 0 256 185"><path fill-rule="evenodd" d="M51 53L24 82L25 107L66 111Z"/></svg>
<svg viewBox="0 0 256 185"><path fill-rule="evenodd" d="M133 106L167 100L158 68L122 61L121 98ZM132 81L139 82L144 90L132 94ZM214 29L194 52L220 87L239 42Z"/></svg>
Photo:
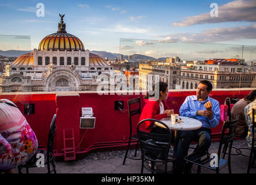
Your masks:
<svg viewBox="0 0 256 185"><path fill-rule="evenodd" d="M114 75L111 65L67 33L63 17L58 31L43 38L38 49L6 65L5 76L0 76L1 92L90 91L97 89L98 76Z"/></svg>

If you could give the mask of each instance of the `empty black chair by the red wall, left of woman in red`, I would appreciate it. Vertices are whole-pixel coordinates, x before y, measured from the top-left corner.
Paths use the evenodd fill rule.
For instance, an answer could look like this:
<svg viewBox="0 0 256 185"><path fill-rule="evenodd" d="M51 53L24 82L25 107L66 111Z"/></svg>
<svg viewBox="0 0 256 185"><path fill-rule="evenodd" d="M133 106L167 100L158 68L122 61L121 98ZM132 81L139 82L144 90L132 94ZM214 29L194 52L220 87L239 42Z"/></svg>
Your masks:
<svg viewBox="0 0 256 185"><path fill-rule="evenodd" d="M140 97L129 99L129 101L127 101L127 102L128 102L128 111L129 111L129 121L130 121L130 136L129 136L129 142L128 142L128 146L127 146L126 153L125 153L125 158L123 159L123 165L125 165L126 158L130 158L130 157L127 157L127 154L130 149L131 139L137 140L136 150L135 150L135 154L134 154L134 157L136 157L137 150L138 150L138 134L135 134L135 135L132 134L132 117L136 114L139 114L139 116L141 114ZM136 106L136 104L138 104L137 105L138 108L131 110L132 109L131 105ZM130 159L140 160L140 158L130 158Z"/></svg>

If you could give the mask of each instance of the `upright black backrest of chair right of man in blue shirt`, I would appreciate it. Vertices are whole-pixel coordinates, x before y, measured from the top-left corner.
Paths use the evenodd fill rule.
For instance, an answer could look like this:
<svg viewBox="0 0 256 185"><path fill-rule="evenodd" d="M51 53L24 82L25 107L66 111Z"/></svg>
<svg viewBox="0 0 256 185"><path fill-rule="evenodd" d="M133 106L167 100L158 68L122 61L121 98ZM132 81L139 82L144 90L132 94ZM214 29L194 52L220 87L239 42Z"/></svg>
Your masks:
<svg viewBox="0 0 256 185"><path fill-rule="evenodd" d="M231 147L233 144L233 138L235 135L235 131L236 131L236 123L237 120L239 119L239 116L236 117L236 120L234 121L225 121L223 123L223 127L222 127L222 132L221 132L221 140L220 140L220 145L218 148L218 157L221 158L221 150L222 150L222 145L224 146L228 146L229 145L229 153L231 152ZM226 129L228 129L228 132L226 132ZM224 147L223 150L226 150L226 148ZM225 153L222 156L222 158L225 157Z"/></svg>

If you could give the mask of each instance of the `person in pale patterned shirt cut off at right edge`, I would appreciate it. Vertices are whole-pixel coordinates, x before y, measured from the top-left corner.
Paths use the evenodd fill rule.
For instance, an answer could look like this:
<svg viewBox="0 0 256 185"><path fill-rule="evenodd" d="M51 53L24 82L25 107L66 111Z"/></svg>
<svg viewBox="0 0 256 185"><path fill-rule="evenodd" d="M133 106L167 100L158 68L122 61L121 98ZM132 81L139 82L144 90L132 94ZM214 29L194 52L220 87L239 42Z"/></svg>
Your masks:
<svg viewBox="0 0 256 185"><path fill-rule="evenodd" d="M246 142L249 147L251 147L251 141L253 139L253 109L256 109L256 99L244 108L244 115L246 116L246 123L248 126ZM254 120L256 121L256 117L254 117ZM254 136L256 137L256 129L254 129ZM256 147L256 142L254 142L254 147Z"/></svg>

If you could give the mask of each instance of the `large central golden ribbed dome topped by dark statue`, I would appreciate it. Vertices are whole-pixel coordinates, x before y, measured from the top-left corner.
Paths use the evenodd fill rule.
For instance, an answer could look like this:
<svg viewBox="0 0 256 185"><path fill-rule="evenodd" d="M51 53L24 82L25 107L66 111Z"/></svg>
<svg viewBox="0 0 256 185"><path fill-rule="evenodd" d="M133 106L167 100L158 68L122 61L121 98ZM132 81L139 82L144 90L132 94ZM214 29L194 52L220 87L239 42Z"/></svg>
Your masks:
<svg viewBox="0 0 256 185"><path fill-rule="evenodd" d="M64 15L65 16L65 15ZM68 34L65 30L66 25L63 22L63 17L61 16L61 21L58 23L57 33L47 35L39 43L38 51L42 50L60 50L60 51L85 51L85 47L80 39L76 36Z"/></svg>

